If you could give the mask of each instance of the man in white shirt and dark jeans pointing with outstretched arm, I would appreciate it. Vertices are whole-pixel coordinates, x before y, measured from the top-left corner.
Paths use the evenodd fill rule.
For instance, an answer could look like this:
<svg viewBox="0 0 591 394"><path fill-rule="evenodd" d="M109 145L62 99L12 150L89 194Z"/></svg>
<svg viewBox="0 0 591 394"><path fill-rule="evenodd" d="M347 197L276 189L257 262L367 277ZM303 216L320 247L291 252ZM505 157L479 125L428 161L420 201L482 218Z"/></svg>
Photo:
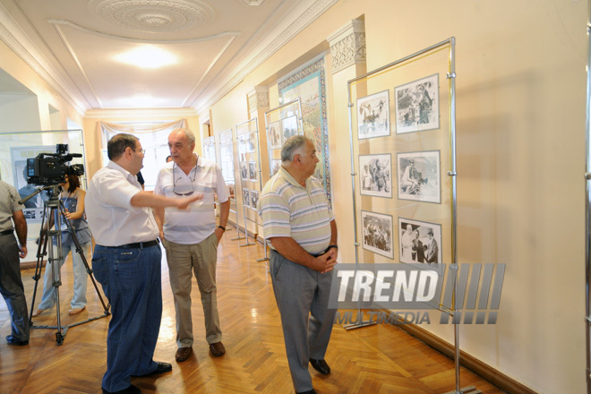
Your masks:
<svg viewBox="0 0 591 394"><path fill-rule="evenodd" d="M95 278L111 304L107 333L107 372L103 394L139 393L132 376L167 373L172 365L153 360L162 316L158 226L150 208L184 210L201 199L196 193L169 199L141 190L137 173L144 150L131 134L107 143L107 167L90 179L86 214L96 241Z"/></svg>

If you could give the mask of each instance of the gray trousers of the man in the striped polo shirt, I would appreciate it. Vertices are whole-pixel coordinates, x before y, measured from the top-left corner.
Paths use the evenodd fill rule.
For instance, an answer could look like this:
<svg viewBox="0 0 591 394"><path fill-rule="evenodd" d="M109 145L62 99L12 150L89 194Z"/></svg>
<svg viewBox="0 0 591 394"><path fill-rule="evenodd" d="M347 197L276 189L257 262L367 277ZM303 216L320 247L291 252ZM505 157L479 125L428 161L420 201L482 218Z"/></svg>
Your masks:
<svg viewBox="0 0 591 394"><path fill-rule="evenodd" d="M332 272L321 274L271 250L270 276L295 391L313 390L308 363L324 358L337 313L328 309Z"/></svg>

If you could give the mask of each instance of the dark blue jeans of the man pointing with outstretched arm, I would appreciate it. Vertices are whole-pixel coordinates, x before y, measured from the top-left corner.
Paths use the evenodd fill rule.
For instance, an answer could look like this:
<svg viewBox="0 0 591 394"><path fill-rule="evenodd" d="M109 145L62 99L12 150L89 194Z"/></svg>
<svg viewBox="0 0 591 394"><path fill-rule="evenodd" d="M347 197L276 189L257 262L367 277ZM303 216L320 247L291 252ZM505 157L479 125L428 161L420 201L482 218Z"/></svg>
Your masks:
<svg viewBox="0 0 591 394"><path fill-rule="evenodd" d="M94 276L111 303L107 333L107 372L102 388L124 390L132 375L156 370L152 359L162 317L160 246L109 248L96 245Z"/></svg>

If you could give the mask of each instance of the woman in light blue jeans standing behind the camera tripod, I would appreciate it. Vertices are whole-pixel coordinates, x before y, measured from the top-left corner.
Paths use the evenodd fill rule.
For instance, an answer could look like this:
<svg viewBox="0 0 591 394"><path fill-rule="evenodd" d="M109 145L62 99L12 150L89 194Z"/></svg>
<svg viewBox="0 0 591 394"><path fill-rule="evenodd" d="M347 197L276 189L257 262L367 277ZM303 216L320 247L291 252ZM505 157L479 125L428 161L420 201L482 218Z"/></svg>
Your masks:
<svg viewBox="0 0 591 394"><path fill-rule="evenodd" d="M47 261L45 268L45 275L43 278L43 296L39 307L33 312L33 316L39 315L46 309L53 307L56 304L57 296L54 291L53 282L51 278L52 271L55 271L55 280L59 278L59 270L64 265L64 261L68 256L68 253L72 252L73 261L73 298L70 309L70 315L81 313L86 309L86 285L87 285L87 272L84 266L84 261L79 253L76 253L76 245L73 242L72 235L68 232L65 220L69 220L73 229L75 230L76 237L81 244L81 250L88 261L90 253L90 228L86 222L84 216L84 197L86 192L80 188L80 178L78 176L69 175L65 176L65 183L60 184L62 186L62 193L60 194L60 200L64 202L65 214L60 216L59 226L62 230L62 260L59 261L59 267L52 270L51 261ZM54 245L55 247L55 245ZM54 253L56 256L57 252ZM56 256L57 257L57 256Z"/></svg>

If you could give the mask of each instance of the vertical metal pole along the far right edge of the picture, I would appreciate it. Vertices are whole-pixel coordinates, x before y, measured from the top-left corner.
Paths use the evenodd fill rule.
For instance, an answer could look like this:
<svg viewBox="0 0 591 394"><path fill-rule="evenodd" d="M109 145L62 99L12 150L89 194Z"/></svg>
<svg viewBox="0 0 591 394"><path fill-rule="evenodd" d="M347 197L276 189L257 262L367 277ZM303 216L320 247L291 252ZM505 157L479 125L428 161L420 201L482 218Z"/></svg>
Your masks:
<svg viewBox="0 0 591 394"><path fill-rule="evenodd" d="M587 394L591 394L591 2L587 4L587 107L585 121L585 337Z"/></svg>

